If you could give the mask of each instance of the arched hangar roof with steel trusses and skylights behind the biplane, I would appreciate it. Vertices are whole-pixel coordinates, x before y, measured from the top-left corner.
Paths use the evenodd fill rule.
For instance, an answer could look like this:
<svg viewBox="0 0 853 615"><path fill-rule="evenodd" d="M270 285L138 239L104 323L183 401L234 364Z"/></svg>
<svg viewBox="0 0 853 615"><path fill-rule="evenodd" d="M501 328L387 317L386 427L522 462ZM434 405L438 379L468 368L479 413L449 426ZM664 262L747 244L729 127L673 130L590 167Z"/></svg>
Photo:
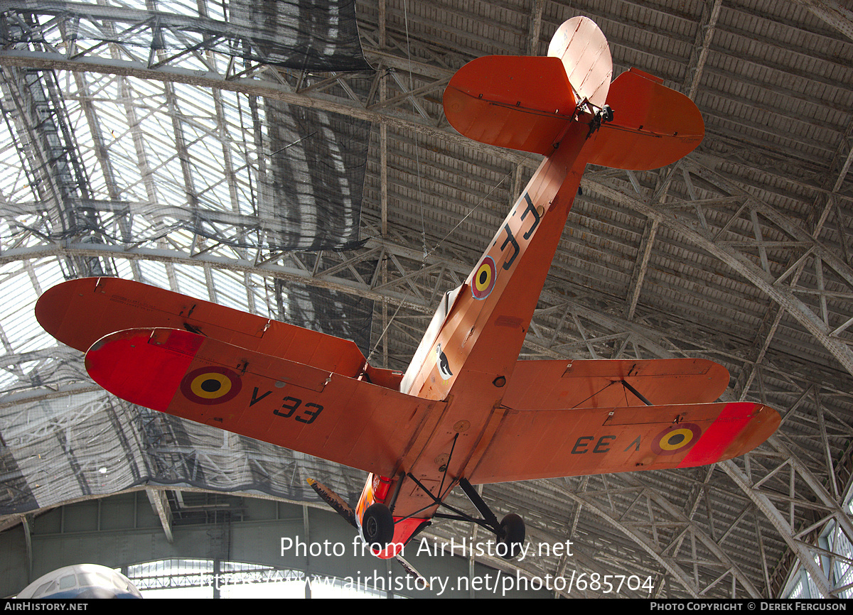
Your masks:
<svg viewBox="0 0 853 615"><path fill-rule="evenodd" d="M664 170L587 170L523 358L705 357L783 422L710 468L485 486L531 541L576 545L516 566L668 597L849 583L853 13L829 0L0 4L4 518L130 486L357 497L360 473L109 398L33 304L119 275L403 369L539 163L456 134L444 86L577 14L706 136Z"/></svg>

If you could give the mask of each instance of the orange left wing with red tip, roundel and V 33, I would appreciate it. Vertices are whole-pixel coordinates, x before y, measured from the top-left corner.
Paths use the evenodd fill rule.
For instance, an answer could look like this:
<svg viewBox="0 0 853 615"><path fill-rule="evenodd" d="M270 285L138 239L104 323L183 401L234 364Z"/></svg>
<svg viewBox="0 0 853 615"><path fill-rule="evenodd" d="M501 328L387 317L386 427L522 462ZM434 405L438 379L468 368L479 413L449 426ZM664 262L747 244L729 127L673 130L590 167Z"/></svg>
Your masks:
<svg viewBox="0 0 853 615"><path fill-rule="evenodd" d="M112 333L86 370L135 404L385 476L444 408L183 330Z"/></svg>

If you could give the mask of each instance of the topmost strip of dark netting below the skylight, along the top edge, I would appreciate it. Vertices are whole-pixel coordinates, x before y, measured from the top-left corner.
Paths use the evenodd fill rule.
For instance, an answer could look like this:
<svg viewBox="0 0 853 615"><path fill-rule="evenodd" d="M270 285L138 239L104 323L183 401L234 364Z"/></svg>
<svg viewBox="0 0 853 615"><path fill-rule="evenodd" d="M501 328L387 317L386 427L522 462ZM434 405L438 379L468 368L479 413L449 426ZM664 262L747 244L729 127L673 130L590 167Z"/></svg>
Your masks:
<svg viewBox="0 0 853 615"><path fill-rule="evenodd" d="M152 8L152 5L154 8ZM309 71L365 71L354 0L237 0L197 3L3 3L6 46L51 43L39 27L63 20L79 49L120 43L142 55L206 49L244 60ZM108 26L107 26L108 25Z"/></svg>

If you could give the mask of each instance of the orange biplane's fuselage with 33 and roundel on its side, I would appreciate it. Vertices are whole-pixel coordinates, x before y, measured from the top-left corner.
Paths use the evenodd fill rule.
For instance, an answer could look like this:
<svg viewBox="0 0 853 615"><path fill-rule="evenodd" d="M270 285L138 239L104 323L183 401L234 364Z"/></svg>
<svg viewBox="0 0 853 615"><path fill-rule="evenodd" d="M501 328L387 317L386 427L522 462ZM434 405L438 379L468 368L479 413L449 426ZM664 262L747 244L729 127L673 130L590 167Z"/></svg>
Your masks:
<svg viewBox="0 0 853 615"><path fill-rule="evenodd" d="M424 488L444 500L461 478L471 477L502 419L505 385L586 166L583 147L595 139L591 119L583 114L572 122L560 147L540 165L454 297L437 334L424 337L415 353L420 362L403 377L403 393L444 405L432 411L439 416L430 421L435 427L428 439L415 438L397 473L385 477L390 482L384 499L374 497L371 474L359 501L357 515L376 501L389 505L397 520L395 544L409 540L438 509ZM384 555L396 555L393 545Z"/></svg>

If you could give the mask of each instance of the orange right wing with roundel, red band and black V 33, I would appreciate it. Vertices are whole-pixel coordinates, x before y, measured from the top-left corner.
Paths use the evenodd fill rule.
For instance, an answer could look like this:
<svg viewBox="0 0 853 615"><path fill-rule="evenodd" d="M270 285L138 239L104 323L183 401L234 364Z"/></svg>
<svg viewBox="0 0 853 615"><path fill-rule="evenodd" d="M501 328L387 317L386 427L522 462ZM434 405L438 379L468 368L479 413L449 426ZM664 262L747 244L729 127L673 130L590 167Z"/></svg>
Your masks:
<svg viewBox="0 0 853 615"><path fill-rule="evenodd" d="M691 468L751 451L779 423L777 411L751 402L506 410L468 480Z"/></svg>

